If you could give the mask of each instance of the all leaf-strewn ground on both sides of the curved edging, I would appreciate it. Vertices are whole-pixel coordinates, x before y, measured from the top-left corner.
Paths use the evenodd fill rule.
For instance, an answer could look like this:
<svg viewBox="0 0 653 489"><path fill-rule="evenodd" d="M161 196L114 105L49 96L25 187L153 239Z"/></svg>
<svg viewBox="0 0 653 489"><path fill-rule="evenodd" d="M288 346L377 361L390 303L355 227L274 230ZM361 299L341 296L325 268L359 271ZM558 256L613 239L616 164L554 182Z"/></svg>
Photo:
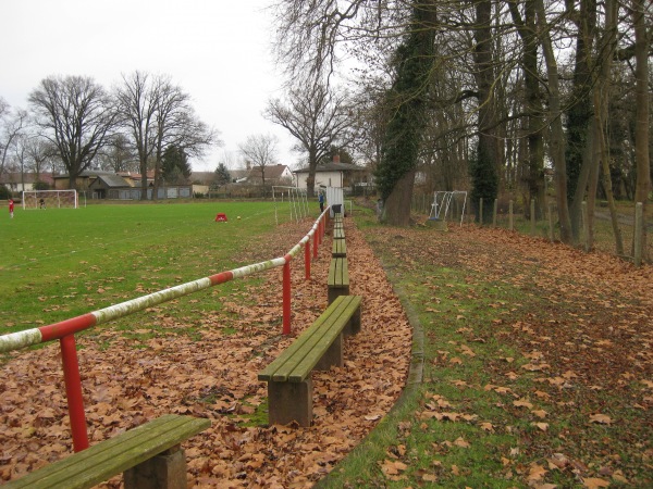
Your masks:
<svg viewBox="0 0 653 489"><path fill-rule="evenodd" d="M184 318L160 306L135 319L137 338L111 327L79 338L91 440L171 412L209 417L212 427L184 444L194 487L653 484L650 266L476 226L362 224L345 220L362 329L346 341L343 368L313 374L313 426L266 425L256 375L293 339L280 335L278 269L230 297L215 289L192 299L221 303L198 334L180 333ZM284 226L239 261L285 250L304 228ZM326 306L330 251L326 237L309 281L294 263L294 334ZM347 475L336 464L406 384L414 331L405 309L423 334L423 383L391 422L394 440ZM162 333L151 336L150 322ZM71 440L58 347L2 368L8 480L65 456Z"/></svg>

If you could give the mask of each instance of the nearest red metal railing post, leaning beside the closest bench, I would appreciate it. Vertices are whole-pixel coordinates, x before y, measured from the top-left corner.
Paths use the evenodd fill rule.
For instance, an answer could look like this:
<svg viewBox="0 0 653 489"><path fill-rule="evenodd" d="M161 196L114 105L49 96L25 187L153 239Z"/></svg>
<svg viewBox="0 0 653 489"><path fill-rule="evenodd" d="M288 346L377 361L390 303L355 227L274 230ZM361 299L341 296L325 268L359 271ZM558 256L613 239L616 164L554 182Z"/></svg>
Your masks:
<svg viewBox="0 0 653 489"><path fill-rule="evenodd" d="M81 452L88 448L88 434L86 432L86 414L84 413L82 377L79 376L75 336L64 336L59 340L59 344L61 346L65 397L67 398L71 430L73 432L73 449L75 452Z"/></svg>

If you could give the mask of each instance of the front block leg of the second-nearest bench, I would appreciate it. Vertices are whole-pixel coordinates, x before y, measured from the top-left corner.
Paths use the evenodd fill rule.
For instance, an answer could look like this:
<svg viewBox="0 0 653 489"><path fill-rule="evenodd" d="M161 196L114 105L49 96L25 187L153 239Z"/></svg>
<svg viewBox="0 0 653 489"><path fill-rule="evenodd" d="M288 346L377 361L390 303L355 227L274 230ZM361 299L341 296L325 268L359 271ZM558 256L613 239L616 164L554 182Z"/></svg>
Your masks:
<svg viewBox="0 0 653 489"><path fill-rule="evenodd" d="M268 383L268 422L287 425L297 422L309 427L312 421L312 380L303 383Z"/></svg>

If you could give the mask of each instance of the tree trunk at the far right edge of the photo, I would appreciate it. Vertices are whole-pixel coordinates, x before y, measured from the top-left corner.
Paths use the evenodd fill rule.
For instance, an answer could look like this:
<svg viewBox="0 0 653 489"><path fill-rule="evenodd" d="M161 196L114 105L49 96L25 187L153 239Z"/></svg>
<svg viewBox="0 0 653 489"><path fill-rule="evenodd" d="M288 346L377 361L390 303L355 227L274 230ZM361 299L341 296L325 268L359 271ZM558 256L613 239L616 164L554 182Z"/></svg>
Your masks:
<svg viewBox="0 0 653 489"><path fill-rule="evenodd" d="M636 128L634 128L634 161L637 165L637 184L634 202L641 202L643 215L646 215L646 201L651 191L651 161L649 159L649 58L644 12L646 0L631 0L632 23L634 25L634 59L636 76ZM634 241L632 243L634 248ZM646 248L646 226L642 231L642 259L651 261Z"/></svg>

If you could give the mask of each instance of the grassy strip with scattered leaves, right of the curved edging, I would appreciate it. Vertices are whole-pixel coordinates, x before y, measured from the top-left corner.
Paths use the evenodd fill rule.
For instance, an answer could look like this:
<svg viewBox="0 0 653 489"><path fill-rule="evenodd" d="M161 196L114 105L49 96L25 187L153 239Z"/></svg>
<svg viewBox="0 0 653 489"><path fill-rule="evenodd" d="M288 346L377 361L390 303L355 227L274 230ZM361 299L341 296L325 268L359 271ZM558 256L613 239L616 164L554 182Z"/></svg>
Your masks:
<svg viewBox="0 0 653 489"><path fill-rule="evenodd" d="M471 266L469 247L442 234L358 221L423 331L423 381L318 487L651 482L645 408L624 402L609 381L583 386L581 372L547 350L555 339L535 331L560 316L574 329L582 302L552 308L547 291L523 279L538 275L535 262L506 263L497 279ZM431 249L434 241L446 243Z"/></svg>

